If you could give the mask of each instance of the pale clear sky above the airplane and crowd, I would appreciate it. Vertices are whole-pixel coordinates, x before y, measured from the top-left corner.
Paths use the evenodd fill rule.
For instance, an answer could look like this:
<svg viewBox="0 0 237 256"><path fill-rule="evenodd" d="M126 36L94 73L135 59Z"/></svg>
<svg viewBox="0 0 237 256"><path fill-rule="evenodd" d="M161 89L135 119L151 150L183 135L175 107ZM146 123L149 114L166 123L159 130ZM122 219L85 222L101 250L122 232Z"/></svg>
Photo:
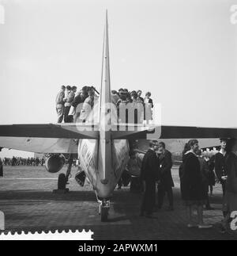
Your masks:
<svg viewBox="0 0 237 256"><path fill-rule="evenodd" d="M235 4L0 0L0 124L55 123L60 86L100 89L107 9L111 89L151 91L162 124L237 127Z"/></svg>

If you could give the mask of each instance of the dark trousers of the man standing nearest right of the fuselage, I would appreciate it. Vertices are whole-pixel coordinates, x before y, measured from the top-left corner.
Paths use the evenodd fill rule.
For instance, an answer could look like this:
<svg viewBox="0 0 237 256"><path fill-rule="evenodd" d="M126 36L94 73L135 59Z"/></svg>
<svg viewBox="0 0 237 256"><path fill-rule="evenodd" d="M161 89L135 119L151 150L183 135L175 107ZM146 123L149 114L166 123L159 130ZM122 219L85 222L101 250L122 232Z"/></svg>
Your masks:
<svg viewBox="0 0 237 256"><path fill-rule="evenodd" d="M145 181L145 193L141 203L141 213L148 215L153 213L156 204L156 181L146 180Z"/></svg>

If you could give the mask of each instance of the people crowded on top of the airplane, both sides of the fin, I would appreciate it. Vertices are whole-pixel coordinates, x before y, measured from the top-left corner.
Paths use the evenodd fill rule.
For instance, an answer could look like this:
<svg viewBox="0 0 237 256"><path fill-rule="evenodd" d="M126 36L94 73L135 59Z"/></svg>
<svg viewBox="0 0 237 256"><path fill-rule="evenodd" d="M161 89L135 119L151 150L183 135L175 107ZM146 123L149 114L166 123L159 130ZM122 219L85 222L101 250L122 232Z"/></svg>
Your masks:
<svg viewBox="0 0 237 256"><path fill-rule="evenodd" d="M134 123L142 123L144 120L152 120L153 101L151 93L147 92L141 97L141 90L129 91L119 89L111 91L111 103L115 105L119 120L128 123L128 115L122 115L123 107L134 109ZM98 102L99 93L94 86L84 86L77 92L77 86L61 86L56 97L56 112L58 123L85 122L91 113L94 105ZM124 117L123 117L124 116Z"/></svg>

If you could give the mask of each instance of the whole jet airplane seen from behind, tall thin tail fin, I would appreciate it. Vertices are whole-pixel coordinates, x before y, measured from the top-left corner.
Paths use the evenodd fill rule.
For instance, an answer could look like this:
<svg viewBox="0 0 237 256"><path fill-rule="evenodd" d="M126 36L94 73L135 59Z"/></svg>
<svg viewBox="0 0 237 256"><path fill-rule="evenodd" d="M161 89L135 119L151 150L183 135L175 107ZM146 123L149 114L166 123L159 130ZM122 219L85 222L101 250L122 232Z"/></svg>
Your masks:
<svg viewBox="0 0 237 256"><path fill-rule="evenodd" d="M110 200L130 156L130 141L167 139L180 143L183 139L237 138L237 128L205 128L167 126L161 124L116 124L111 104L108 19L103 32L103 62L100 99L93 109L96 120L70 124L0 125L0 147L48 154L46 168L57 173L69 155L66 174L59 174L58 189L69 181L73 155L78 155L80 168L91 182L100 203L101 221L107 221ZM213 146L216 146L216 140ZM210 145L211 146L211 145Z"/></svg>

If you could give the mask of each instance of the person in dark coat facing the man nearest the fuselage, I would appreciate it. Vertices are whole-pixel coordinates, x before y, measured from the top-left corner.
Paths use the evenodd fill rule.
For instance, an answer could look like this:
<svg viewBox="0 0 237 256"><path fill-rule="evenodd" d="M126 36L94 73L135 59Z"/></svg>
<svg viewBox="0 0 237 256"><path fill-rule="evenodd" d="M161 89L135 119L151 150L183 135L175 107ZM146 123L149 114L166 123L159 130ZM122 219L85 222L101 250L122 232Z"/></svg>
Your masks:
<svg viewBox="0 0 237 256"><path fill-rule="evenodd" d="M167 194L169 206L167 211L174 211L173 190L174 181L171 175L172 156L171 152L165 148L165 143L158 144L159 166L160 166L160 181L158 182L158 208L162 208L164 203L164 196Z"/></svg>

